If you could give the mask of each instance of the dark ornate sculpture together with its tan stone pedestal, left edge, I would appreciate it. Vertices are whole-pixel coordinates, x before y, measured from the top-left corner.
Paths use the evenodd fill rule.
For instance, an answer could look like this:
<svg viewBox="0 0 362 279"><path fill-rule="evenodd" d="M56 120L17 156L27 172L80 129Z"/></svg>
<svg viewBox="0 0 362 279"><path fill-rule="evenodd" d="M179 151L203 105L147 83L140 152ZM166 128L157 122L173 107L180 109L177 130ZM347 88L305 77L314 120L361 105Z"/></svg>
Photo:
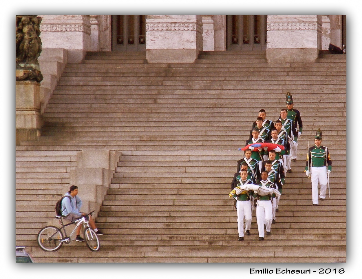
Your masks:
<svg viewBox="0 0 362 279"><path fill-rule="evenodd" d="M42 51L41 20L35 15L16 16L16 145L20 141L36 140L43 124L39 98L43 75L38 63Z"/></svg>

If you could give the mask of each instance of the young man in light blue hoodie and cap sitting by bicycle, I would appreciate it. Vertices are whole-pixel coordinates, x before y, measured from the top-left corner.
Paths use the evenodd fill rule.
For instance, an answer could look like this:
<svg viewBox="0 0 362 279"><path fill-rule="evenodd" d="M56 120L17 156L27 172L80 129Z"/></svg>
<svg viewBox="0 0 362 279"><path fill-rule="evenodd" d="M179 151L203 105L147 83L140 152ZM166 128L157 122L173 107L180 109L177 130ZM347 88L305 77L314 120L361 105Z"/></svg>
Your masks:
<svg viewBox="0 0 362 279"><path fill-rule="evenodd" d="M78 195L78 187L74 185L69 187L69 191L65 193L64 196L69 196L70 198L65 197L62 200L62 215L65 216L64 219L73 222L85 216L85 218L89 220L89 225L94 230L94 232L96 232L98 235L104 234L103 232L101 232L101 230L97 229L96 224L94 224L92 216L79 211L82 206L82 201L77 195ZM84 241L84 239L80 236L80 228L81 226L77 228L77 236L75 238L75 241L82 242Z"/></svg>

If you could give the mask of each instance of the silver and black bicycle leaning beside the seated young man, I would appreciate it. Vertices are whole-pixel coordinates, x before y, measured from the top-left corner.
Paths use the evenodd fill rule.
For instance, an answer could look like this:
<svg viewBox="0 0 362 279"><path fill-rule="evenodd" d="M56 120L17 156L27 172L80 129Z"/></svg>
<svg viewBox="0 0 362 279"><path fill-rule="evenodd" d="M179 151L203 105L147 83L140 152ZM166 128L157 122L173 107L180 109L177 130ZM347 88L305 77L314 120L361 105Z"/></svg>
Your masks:
<svg viewBox="0 0 362 279"><path fill-rule="evenodd" d="M94 210L88 215L92 215ZM62 247L63 243L69 244L71 242L71 237L73 236L76 229L83 224L84 227L84 240L87 244L88 248L91 251L98 251L101 247L97 233L94 232L92 228L89 227L88 219L85 218L86 216L82 216L81 218L68 223L66 225L63 224L63 216L55 216L55 218L59 219L59 223L62 224L60 228L57 228L56 226L45 226L42 228L38 233L38 245L40 248L44 251L57 251ZM67 236L67 232L65 230L66 226L76 224L73 231L70 233L70 236ZM64 235L62 232L62 229L64 231Z"/></svg>

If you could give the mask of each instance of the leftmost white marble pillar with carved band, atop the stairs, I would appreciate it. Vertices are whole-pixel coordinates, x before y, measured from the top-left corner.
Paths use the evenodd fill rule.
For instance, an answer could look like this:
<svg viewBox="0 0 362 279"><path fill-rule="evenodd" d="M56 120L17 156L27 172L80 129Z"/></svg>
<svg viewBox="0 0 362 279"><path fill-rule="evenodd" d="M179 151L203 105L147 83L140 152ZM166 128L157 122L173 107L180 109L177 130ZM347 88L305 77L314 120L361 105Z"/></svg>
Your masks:
<svg viewBox="0 0 362 279"><path fill-rule="evenodd" d="M80 63L91 50L89 15L41 15L43 49L66 49L68 63Z"/></svg>

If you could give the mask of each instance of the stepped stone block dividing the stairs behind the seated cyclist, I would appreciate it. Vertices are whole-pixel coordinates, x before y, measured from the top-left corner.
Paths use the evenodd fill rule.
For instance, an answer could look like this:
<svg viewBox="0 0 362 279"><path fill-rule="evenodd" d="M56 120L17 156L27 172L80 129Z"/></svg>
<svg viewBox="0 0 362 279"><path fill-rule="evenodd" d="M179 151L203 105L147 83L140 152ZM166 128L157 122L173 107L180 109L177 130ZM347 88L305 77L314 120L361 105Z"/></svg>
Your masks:
<svg viewBox="0 0 362 279"><path fill-rule="evenodd" d="M85 149L77 153L76 168L70 171L70 185L79 187L83 203L81 211L94 210L94 216L97 216L121 155L121 151L101 149ZM69 186L63 189L64 193Z"/></svg>

